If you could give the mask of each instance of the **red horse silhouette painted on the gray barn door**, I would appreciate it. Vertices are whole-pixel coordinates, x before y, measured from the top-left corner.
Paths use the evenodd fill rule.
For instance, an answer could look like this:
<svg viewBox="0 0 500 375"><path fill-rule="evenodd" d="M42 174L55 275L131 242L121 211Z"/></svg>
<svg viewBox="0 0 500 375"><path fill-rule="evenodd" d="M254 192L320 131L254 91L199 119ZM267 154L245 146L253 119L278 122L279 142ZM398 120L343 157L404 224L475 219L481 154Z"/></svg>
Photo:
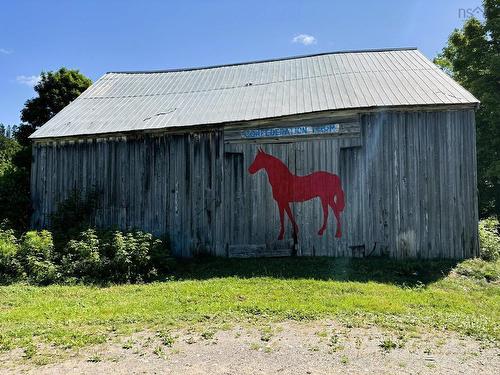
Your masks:
<svg viewBox="0 0 500 375"><path fill-rule="evenodd" d="M259 149L253 163L248 168L248 172L254 174L261 169L267 172L273 198L278 204L281 223L279 240L282 240L285 234L284 219L286 212L293 224L293 238L297 241L298 226L290 209L290 202L305 202L317 197L321 199L323 207L323 225L318 234L323 235L326 229L328 207L331 207L337 219L335 237L342 236L340 213L344 210L345 203L339 176L321 171L306 176L296 176L289 171L288 167L280 159Z"/></svg>

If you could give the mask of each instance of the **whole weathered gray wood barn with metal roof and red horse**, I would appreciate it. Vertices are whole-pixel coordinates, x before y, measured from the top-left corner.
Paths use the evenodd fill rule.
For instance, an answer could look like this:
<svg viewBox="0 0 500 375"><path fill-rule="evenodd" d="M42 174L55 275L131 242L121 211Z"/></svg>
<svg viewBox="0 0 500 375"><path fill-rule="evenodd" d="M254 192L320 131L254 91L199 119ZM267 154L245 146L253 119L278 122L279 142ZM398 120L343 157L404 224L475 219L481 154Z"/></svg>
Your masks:
<svg viewBox="0 0 500 375"><path fill-rule="evenodd" d="M179 256L474 256L477 106L416 49L107 73L31 136L33 226L95 189Z"/></svg>

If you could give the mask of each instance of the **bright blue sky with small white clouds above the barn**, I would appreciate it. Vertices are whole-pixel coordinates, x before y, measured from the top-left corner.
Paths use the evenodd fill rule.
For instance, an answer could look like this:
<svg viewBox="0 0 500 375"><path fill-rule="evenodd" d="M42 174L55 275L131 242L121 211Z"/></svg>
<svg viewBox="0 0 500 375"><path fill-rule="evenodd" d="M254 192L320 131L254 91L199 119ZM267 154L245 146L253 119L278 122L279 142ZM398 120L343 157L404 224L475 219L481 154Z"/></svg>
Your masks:
<svg viewBox="0 0 500 375"><path fill-rule="evenodd" d="M480 0L2 0L0 123L41 71L169 69L325 51L418 47L433 58Z"/></svg>

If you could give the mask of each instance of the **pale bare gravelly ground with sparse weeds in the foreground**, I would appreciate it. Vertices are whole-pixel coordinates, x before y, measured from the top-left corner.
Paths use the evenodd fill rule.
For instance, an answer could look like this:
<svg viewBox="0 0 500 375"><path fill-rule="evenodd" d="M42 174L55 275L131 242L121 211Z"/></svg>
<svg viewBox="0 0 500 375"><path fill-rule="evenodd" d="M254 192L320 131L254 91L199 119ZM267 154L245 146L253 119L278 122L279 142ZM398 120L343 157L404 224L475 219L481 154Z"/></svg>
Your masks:
<svg viewBox="0 0 500 375"><path fill-rule="evenodd" d="M79 351L0 354L0 374L19 373L500 374L500 349L450 332L284 322L141 332Z"/></svg>

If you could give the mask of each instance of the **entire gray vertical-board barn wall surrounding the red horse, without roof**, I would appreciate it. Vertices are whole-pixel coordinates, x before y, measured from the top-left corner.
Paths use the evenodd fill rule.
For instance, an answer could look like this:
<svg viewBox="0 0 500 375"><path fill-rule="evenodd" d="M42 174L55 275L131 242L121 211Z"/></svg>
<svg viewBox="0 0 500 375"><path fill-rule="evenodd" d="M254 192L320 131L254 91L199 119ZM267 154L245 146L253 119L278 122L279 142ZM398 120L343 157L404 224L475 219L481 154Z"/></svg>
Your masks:
<svg viewBox="0 0 500 375"><path fill-rule="evenodd" d="M478 254L473 110L378 112L361 116L357 137L241 142L234 129L35 143L35 227L73 188L101 193L96 225L167 235L174 253L283 255L293 244L264 171L248 173L258 147L297 175L340 176L342 237L319 199L293 203L298 255L351 256L352 246L395 258ZM282 125L280 125L282 126Z"/></svg>

